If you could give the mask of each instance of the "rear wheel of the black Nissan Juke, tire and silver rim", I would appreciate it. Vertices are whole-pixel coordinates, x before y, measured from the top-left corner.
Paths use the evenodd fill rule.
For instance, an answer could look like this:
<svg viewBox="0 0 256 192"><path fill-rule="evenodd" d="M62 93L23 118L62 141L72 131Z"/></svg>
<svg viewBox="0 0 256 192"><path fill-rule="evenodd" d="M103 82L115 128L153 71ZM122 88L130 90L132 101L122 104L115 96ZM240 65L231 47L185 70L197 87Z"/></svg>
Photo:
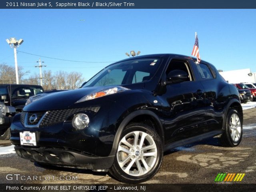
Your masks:
<svg viewBox="0 0 256 192"><path fill-rule="evenodd" d="M243 135L241 116L237 110L230 108L225 122L225 130L220 137L224 147L236 147L240 144Z"/></svg>

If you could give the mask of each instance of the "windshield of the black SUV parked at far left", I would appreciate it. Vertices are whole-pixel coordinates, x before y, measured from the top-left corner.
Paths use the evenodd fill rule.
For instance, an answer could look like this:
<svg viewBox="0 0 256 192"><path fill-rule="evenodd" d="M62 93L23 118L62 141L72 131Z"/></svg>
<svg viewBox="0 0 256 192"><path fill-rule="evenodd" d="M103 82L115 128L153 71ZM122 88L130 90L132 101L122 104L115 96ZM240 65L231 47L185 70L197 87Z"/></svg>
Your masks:
<svg viewBox="0 0 256 192"><path fill-rule="evenodd" d="M43 92L44 90L41 87L19 86L18 88L12 88L12 98L29 98Z"/></svg>

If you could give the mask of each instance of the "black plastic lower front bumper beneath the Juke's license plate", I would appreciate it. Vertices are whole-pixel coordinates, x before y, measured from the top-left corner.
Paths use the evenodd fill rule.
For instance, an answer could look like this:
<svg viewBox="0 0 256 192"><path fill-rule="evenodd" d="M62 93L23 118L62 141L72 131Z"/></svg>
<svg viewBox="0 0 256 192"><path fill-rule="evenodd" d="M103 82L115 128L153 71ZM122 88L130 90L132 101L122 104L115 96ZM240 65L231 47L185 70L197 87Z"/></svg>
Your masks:
<svg viewBox="0 0 256 192"><path fill-rule="evenodd" d="M90 170L105 170L111 168L115 156L99 157L84 154L82 152L56 149L56 148L31 148L31 147L14 147L18 156L40 162L58 166L80 167Z"/></svg>

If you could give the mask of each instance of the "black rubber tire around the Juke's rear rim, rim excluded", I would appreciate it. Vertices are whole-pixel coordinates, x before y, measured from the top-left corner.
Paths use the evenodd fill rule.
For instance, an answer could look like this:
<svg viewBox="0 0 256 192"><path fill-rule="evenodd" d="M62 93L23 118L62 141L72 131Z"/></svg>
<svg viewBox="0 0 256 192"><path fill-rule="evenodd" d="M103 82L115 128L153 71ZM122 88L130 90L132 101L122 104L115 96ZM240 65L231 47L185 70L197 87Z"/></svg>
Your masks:
<svg viewBox="0 0 256 192"><path fill-rule="evenodd" d="M241 135L240 135L240 138L237 142L233 141L232 138L231 138L231 135L230 135L230 125L229 125L229 121L230 121L230 118L232 116L232 114L237 114L239 119L240 119L240 124L241 124ZM230 109L228 111L228 115L227 115L227 118L226 118L226 128L225 128L225 134L226 134L226 139L227 139L227 142L230 146L238 146L242 140L242 135L243 135L243 125L242 125L242 120L241 120L241 116L240 114L237 112L237 110L235 109Z"/></svg>

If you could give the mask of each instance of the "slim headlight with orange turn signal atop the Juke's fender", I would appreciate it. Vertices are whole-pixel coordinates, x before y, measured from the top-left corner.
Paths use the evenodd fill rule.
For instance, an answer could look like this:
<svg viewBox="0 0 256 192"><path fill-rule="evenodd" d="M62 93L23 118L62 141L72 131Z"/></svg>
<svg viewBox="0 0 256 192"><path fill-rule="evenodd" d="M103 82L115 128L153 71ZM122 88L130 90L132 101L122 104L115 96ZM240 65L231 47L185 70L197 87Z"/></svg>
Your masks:
<svg viewBox="0 0 256 192"><path fill-rule="evenodd" d="M91 94L88 94L88 95L84 96L83 98L78 100L76 103L91 100L91 99L95 99L95 98L98 98L98 97L103 97L103 96L110 95L110 94L115 94L115 93L126 91L126 90L130 90L130 89L122 87L122 86L115 86L115 87L108 88L108 89L105 89L105 90L99 90L97 92L93 92Z"/></svg>

